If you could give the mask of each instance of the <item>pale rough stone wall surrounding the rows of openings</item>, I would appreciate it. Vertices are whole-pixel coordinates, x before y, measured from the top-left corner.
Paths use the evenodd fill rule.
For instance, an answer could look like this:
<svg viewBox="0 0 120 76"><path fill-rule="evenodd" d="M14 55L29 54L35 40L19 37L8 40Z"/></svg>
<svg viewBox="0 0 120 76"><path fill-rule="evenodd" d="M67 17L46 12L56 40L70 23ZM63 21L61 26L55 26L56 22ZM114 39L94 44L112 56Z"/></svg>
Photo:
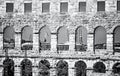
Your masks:
<svg viewBox="0 0 120 76"><path fill-rule="evenodd" d="M78 12L78 2L87 2L87 12ZM104 0L102 0L104 1ZM51 76L56 76L56 64L59 60L68 62L69 76L75 76L75 62L81 60L87 65L87 76L108 76L112 73L112 66L119 62L120 53L113 55L113 30L120 24L120 14L116 12L117 0L105 0L106 11L97 12L97 0L1 0L0 1L0 22L2 30L0 33L0 76L3 73L3 61L5 50L3 50L3 30L6 26L13 26L15 29L15 49L9 50L8 55L15 63L15 76L20 76L20 64L25 58L25 50L21 50L21 29L29 25L33 28L33 50L27 51L27 57L31 60L33 76L38 76L38 63L46 59L51 64ZM14 3L14 12L6 13L6 2ZM32 13L24 14L24 3L32 2ZM50 12L42 13L42 3L50 2ZM60 2L69 2L68 13L60 14ZM39 52L39 29L44 25L51 30L51 50ZM57 29L66 26L69 30L69 51L57 53ZM87 51L75 51L75 30L79 26L86 27ZM94 29L103 26L107 31L107 49L93 50ZM98 74L93 72L93 65L96 62L103 62L106 65L106 73Z"/></svg>

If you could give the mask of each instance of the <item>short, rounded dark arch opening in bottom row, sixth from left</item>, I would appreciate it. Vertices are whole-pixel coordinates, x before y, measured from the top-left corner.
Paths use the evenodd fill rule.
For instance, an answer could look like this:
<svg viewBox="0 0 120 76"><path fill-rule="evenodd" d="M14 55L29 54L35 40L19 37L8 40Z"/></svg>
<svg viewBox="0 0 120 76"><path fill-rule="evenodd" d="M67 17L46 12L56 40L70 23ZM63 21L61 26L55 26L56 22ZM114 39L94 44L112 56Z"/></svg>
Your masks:
<svg viewBox="0 0 120 76"><path fill-rule="evenodd" d="M105 73L106 72L106 66L103 62L97 62L93 66L94 72L98 73Z"/></svg>

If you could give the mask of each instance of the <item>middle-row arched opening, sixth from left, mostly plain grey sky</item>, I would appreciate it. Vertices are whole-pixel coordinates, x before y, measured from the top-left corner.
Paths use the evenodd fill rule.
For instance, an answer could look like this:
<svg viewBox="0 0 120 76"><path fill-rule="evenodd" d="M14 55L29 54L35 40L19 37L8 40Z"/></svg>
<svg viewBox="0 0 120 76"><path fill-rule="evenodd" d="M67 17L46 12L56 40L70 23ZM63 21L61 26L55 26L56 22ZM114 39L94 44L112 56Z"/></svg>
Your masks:
<svg viewBox="0 0 120 76"><path fill-rule="evenodd" d="M106 49L106 29L98 26L94 30L94 49Z"/></svg>

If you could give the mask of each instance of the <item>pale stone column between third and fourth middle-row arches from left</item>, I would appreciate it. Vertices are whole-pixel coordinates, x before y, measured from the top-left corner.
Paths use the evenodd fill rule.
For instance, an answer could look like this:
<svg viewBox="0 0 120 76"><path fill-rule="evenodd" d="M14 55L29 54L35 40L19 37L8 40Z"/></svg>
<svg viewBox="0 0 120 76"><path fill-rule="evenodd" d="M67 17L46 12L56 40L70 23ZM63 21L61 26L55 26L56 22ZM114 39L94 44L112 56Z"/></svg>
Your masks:
<svg viewBox="0 0 120 76"><path fill-rule="evenodd" d="M56 34L51 35L51 52L57 52L57 36Z"/></svg>

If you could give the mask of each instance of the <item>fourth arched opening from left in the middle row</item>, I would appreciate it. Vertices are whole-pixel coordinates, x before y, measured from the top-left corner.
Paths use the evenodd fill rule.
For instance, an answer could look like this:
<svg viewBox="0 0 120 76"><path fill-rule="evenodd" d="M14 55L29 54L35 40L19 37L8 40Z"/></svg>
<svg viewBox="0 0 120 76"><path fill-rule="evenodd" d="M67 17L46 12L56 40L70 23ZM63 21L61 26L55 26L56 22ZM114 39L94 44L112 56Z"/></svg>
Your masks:
<svg viewBox="0 0 120 76"><path fill-rule="evenodd" d="M62 26L57 31L57 50L69 50L69 33L66 27Z"/></svg>

